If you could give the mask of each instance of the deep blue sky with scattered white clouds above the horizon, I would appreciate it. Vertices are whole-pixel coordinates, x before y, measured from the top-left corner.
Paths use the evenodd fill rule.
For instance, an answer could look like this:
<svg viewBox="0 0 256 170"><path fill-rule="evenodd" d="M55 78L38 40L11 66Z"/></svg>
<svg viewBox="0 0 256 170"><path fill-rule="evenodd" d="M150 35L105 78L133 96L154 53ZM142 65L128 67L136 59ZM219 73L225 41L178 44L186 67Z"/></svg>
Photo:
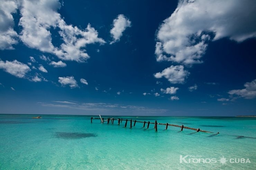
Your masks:
<svg viewBox="0 0 256 170"><path fill-rule="evenodd" d="M256 114L254 1L1 0L0 113Z"/></svg>

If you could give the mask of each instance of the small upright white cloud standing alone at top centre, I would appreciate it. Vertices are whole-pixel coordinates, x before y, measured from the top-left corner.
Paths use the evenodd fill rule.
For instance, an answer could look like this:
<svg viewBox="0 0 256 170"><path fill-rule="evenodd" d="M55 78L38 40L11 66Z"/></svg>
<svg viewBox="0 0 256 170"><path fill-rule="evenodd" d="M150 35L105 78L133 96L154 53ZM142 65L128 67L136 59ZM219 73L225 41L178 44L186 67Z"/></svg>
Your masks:
<svg viewBox="0 0 256 170"><path fill-rule="evenodd" d="M123 14L119 14L117 18L113 20L113 28L110 30L113 41L111 41L110 44L119 41L127 27L131 27L131 21Z"/></svg>

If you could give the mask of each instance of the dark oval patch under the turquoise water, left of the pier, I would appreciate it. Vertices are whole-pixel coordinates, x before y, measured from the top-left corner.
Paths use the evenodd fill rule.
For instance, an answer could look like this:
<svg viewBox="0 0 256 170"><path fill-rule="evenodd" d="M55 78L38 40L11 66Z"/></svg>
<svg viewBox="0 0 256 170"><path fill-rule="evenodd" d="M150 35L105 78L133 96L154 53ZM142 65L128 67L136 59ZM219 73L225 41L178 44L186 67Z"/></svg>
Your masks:
<svg viewBox="0 0 256 170"><path fill-rule="evenodd" d="M63 138L63 139L81 139L81 138L88 138L88 137L96 137L97 135L94 133L77 133L77 132L56 132L56 138Z"/></svg>

